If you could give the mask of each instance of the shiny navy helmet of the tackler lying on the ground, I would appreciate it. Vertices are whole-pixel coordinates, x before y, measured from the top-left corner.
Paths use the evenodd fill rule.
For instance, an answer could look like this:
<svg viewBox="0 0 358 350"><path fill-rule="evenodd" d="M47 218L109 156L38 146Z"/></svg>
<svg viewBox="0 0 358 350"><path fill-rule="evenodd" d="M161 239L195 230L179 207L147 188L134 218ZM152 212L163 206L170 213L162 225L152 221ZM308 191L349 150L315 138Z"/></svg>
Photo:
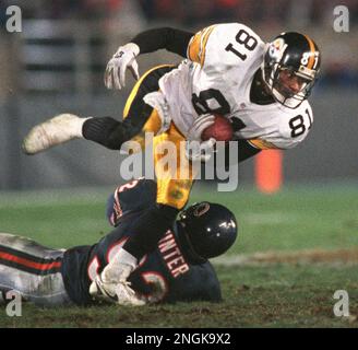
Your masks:
<svg viewBox="0 0 358 350"><path fill-rule="evenodd" d="M207 201L181 211L177 225L183 253L192 264L203 264L224 254L238 234L234 213Z"/></svg>

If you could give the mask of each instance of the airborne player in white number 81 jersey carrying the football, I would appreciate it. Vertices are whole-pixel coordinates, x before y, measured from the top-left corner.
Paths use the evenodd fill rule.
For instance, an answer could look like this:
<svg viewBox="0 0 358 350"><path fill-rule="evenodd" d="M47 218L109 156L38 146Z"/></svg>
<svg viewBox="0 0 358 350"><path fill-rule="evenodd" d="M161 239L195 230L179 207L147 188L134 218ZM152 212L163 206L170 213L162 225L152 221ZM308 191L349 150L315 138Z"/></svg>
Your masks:
<svg viewBox="0 0 358 350"><path fill-rule="evenodd" d="M140 79L136 56L162 48L186 59L177 67L153 68ZM203 141L201 135L214 122L214 114L230 119L239 162L264 149L289 149L301 142L312 126L307 97L320 61L315 43L295 32L283 33L266 44L240 23L216 24L196 34L174 28L146 31L119 47L107 65L108 89L124 85L127 69L139 80L126 104L122 121L59 115L33 128L23 149L35 154L84 138L119 150L128 140L143 142L145 132L151 131L155 135L154 147L163 141L175 143L177 164L182 164L183 156L205 161L215 140ZM186 140L200 142L196 152L180 152L180 143ZM163 154L155 154L154 162L162 158ZM126 289L131 270L155 248L188 201L195 174L192 162L183 164L188 164L189 178L182 178L181 173L169 178L158 176L156 206L136 221L136 234L116 258L116 281L103 278L102 288L123 282Z"/></svg>

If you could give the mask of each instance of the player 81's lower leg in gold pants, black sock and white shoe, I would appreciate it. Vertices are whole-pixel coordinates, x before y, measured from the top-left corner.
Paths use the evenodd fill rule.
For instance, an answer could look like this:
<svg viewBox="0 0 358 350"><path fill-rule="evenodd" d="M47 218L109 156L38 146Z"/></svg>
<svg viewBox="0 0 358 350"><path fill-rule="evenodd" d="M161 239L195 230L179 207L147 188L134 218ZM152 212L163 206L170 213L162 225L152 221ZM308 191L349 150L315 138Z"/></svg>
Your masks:
<svg viewBox="0 0 358 350"><path fill-rule="evenodd" d="M160 165L163 161L163 148L165 142L171 142L175 154L169 156L176 158L176 168L172 171L171 165ZM131 271L136 267L138 261L147 253L157 247L157 243L165 232L171 228L178 212L184 207L189 199L190 190L194 179L194 171L192 163L190 163L184 154L184 137L171 125L170 129L156 137L154 140L154 154L157 177L157 202L156 206L148 208L143 215L136 219L135 223L131 226L131 231L135 232L123 245L122 249L116 257L106 266L99 277L98 288L96 282L92 288L97 291L100 288L106 290L117 285L117 291L123 290L126 292L127 285L124 284ZM164 163L162 165L165 165ZM170 168L171 167L171 168ZM104 282L104 283L102 283ZM127 292L126 292L127 293ZM128 294L128 293L127 293ZM131 304L131 298L121 303ZM133 300L133 305L136 301Z"/></svg>

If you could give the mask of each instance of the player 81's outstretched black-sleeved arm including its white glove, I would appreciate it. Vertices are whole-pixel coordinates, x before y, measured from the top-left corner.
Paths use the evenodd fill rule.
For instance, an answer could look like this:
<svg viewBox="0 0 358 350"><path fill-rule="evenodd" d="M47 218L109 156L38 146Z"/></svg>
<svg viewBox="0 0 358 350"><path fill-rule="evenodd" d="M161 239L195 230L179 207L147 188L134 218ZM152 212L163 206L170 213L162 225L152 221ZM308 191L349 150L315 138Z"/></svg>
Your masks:
<svg viewBox="0 0 358 350"><path fill-rule="evenodd" d="M126 85L126 70L129 69L138 80L139 68L135 60L141 54L154 52L159 49L187 56L187 48L193 33L163 27L140 33L129 44L120 46L109 60L105 72L107 89L122 89Z"/></svg>

